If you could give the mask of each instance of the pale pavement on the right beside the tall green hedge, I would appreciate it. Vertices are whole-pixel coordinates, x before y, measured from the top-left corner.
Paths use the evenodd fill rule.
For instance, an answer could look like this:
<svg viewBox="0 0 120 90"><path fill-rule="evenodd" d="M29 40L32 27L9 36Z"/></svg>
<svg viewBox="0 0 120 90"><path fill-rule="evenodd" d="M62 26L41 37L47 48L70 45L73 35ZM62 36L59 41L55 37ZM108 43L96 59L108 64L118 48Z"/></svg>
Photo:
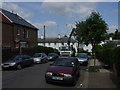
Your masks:
<svg viewBox="0 0 120 90"><path fill-rule="evenodd" d="M86 72L82 88L118 88L113 73L104 69L97 59L89 60L88 68L93 67L94 64L99 72Z"/></svg>

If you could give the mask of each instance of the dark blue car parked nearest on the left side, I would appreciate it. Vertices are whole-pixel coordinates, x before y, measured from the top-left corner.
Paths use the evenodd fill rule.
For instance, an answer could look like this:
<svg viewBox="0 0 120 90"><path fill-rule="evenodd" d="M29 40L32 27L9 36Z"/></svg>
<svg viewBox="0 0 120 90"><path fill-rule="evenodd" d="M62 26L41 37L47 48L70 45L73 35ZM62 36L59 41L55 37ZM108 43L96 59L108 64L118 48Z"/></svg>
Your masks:
<svg viewBox="0 0 120 90"><path fill-rule="evenodd" d="M28 55L17 55L2 63L2 69L22 69L34 64L34 60Z"/></svg>

